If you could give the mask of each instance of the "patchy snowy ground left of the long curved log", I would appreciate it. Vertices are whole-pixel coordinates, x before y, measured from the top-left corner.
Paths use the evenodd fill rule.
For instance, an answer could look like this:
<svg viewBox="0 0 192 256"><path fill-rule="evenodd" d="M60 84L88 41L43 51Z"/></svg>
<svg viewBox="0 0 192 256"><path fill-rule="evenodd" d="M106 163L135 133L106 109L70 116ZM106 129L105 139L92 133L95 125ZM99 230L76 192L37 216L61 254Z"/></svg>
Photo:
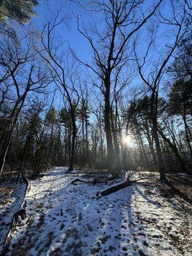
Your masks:
<svg viewBox="0 0 192 256"><path fill-rule="evenodd" d="M0 184L0 252L12 225L13 214L24 199L25 188L26 184L17 183L15 180Z"/></svg>

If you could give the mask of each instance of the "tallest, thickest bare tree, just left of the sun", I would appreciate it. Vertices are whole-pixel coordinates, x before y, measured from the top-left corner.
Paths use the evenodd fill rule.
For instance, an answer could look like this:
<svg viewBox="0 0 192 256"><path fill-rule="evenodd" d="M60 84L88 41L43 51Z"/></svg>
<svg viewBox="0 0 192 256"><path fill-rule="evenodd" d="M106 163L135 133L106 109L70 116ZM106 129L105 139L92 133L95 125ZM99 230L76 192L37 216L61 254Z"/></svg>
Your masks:
<svg viewBox="0 0 192 256"><path fill-rule="evenodd" d="M143 13L143 1L92 1L92 7L104 20L104 29L95 26L88 28L80 24L77 18L78 31L88 40L93 51L94 65L79 60L90 68L100 79L100 85L95 83L104 97L104 124L108 147L108 168L118 176L115 166L114 152L115 136L112 134L111 91L115 84L115 77L124 72L127 61L131 58L129 42L132 36L154 15L162 0L149 13ZM115 139L115 140L114 140Z"/></svg>

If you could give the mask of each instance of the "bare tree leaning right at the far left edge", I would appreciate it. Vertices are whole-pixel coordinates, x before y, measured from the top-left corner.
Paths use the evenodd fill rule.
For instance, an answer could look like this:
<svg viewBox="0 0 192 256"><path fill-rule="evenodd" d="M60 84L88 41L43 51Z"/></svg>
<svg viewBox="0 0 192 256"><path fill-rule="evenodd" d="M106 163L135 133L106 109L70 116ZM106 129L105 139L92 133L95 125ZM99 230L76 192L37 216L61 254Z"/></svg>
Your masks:
<svg viewBox="0 0 192 256"><path fill-rule="evenodd" d="M50 83L49 70L36 58L33 51L33 40L31 36L26 35L18 42L15 42L10 36L4 37L1 45L1 68L6 70L6 80L2 81L9 90L10 102L3 102L8 106L8 115L1 116L4 122L1 122L1 154L0 154L0 174L3 172L4 162L10 142L12 140L13 129L24 102L31 93L43 93L45 87ZM4 99L3 99L4 100Z"/></svg>

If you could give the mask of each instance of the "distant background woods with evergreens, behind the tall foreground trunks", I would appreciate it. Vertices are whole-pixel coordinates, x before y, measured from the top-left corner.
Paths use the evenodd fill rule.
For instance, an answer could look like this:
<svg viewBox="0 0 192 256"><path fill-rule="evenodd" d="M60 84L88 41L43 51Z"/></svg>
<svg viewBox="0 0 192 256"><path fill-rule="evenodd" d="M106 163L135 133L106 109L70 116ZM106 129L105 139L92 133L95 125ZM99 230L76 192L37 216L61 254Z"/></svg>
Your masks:
<svg viewBox="0 0 192 256"><path fill-rule="evenodd" d="M158 118L159 121L161 120L161 125L158 127L158 132L163 150L163 161L166 170L171 172L187 171L191 168L189 165L190 130L188 130L189 126L186 129L184 126L184 118L187 120L187 125L190 123L191 107L187 102L191 93L188 93L188 89L191 87L183 90L186 85L188 84L181 81L173 84L168 101L160 99L159 103ZM181 86L182 91L180 91ZM178 105L175 108L175 102L179 102L182 93L188 106L186 110L182 106L178 109ZM182 102L183 106L185 103ZM156 148L148 111L149 104L149 97L145 95L139 100L129 100L126 104L128 107L124 106L122 113L118 111L118 115L122 115L118 129L115 130L118 141L120 141L118 145L120 163L125 154L125 166L120 164L119 168L157 169ZM49 166L68 166L70 163L72 146L70 110L67 107L56 110L53 106L45 109L47 109L45 101L36 100L19 115L6 158L6 163L10 166L17 164L17 170L28 168L30 163L33 164L31 172L33 171L33 175L36 175ZM185 111L186 117L183 115ZM98 122L96 118L101 122ZM83 99L83 102L79 102L79 108L76 109L76 124L74 154L76 166L107 168L103 108L100 106L100 108L92 109L92 106ZM130 137L132 141L126 141L126 138L122 138L121 135L124 134L127 125L130 127L129 133L132 134ZM131 145L126 145L126 143L131 143Z"/></svg>

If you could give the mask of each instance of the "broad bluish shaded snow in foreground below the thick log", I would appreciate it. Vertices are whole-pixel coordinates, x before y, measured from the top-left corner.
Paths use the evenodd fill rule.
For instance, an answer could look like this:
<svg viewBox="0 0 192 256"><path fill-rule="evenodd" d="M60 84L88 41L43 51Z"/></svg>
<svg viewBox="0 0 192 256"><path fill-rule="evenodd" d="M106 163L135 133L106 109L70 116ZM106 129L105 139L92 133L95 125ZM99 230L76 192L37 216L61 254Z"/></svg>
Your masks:
<svg viewBox="0 0 192 256"><path fill-rule="evenodd" d="M135 253L130 244L132 230L124 222L134 193L132 186L102 200L93 198L98 188L88 184L66 184L61 188L60 183L52 188L56 186L58 190L50 196L45 196L45 189L41 198L28 198L28 216L17 228L10 253L36 256L97 255L100 250L104 255L116 250Z"/></svg>

